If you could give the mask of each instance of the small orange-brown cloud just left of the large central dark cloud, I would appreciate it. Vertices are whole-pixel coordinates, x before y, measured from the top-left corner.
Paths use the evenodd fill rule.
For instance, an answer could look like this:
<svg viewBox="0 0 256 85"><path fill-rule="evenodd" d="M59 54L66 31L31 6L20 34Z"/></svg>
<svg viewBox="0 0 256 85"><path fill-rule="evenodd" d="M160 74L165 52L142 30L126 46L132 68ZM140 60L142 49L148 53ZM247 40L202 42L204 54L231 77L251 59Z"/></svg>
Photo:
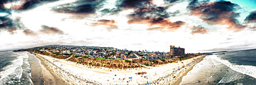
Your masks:
<svg viewBox="0 0 256 85"><path fill-rule="evenodd" d="M97 22L91 23L91 24L92 24L92 26L104 26L108 30L112 30L112 29L118 28L118 26L114 25L114 23L116 23L115 20L102 19L102 20L98 20Z"/></svg>

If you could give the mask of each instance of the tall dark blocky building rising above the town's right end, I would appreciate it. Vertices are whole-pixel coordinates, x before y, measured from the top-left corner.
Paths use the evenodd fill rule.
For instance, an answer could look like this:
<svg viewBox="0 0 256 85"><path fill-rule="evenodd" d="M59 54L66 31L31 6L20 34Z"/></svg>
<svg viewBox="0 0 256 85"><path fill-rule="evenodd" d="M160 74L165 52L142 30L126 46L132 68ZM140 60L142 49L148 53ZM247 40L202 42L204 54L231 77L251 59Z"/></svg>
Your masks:
<svg viewBox="0 0 256 85"><path fill-rule="evenodd" d="M170 55L176 56L176 55L184 55L185 54L185 48L176 48L175 46L170 46Z"/></svg>

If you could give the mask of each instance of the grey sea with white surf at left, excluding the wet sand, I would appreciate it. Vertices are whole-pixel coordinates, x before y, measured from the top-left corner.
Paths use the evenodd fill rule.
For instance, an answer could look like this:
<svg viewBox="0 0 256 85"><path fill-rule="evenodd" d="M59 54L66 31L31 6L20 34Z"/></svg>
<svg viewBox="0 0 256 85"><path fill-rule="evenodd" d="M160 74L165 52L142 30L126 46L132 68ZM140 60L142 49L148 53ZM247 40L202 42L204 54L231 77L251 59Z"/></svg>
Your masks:
<svg viewBox="0 0 256 85"><path fill-rule="evenodd" d="M32 84L27 52L0 52L0 84Z"/></svg>

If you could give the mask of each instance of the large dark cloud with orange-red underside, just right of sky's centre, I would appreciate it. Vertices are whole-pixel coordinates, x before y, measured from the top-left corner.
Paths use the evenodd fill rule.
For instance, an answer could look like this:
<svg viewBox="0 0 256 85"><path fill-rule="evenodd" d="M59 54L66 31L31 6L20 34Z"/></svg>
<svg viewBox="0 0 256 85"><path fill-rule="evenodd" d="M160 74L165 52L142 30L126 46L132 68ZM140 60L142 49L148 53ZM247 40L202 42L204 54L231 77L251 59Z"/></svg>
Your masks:
<svg viewBox="0 0 256 85"><path fill-rule="evenodd" d="M166 12L167 8L164 7L152 7L152 8L137 8L134 13L128 15L128 23L145 23L149 26L159 26L154 28L149 28L148 30L161 30L169 29L176 30L183 26L185 22L175 21L172 22L168 17L175 15L175 13Z"/></svg>

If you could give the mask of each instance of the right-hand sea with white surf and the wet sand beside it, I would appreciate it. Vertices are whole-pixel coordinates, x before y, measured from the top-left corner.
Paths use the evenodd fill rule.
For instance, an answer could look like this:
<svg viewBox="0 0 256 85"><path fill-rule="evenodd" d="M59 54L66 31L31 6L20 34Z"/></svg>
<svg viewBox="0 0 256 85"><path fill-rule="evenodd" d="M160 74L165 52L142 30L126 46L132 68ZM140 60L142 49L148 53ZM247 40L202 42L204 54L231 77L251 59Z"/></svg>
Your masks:
<svg viewBox="0 0 256 85"><path fill-rule="evenodd" d="M256 49L206 56L181 84L256 84Z"/></svg>

